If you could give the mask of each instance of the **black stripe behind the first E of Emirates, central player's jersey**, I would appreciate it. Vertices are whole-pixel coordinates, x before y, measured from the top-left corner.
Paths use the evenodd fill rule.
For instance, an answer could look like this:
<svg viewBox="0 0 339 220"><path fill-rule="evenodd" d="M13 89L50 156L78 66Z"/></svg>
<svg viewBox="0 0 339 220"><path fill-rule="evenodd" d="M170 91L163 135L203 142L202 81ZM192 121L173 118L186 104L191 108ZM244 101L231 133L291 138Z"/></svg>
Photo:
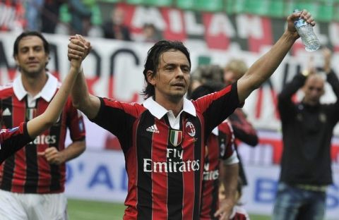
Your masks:
<svg viewBox="0 0 339 220"><path fill-rule="evenodd" d="M142 123L141 123L142 122ZM138 121L136 129L136 157L138 159L138 219L152 218L152 178L150 172L143 171L144 159L152 158L153 133L146 131L149 126L153 126L155 118L149 111L145 111ZM127 166L135 166L128 164ZM153 165L150 167L153 168Z"/></svg>

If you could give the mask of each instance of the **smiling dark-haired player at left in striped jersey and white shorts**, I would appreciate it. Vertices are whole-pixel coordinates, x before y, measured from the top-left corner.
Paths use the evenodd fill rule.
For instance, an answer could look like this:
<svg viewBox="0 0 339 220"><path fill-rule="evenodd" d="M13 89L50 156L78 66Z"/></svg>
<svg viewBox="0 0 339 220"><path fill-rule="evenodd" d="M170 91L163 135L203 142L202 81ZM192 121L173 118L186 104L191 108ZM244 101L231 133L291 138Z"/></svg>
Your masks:
<svg viewBox="0 0 339 220"><path fill-rule="evenodd" d="M78 54L83 51L82 46L79 45ZM1 127L19 127L25 133L25 123L21 125L23 127L20 123L32 120L47 109L59 90L59 82L46 70L49 44L39 32L20 34L13 51L21 74L13 84L0 90ZM79 56L73 59L79 59ZM65 162L85 150L83 117L73 108L71 99L67 99L62 110L49 111L61 111L57 123L1 164L0 219L67 218ZM37 121L44 120L45 116ZM33 130L28 128L32 132L28 130L30 137L38 133L36 122L32 124ZM73 143L65 148L67 127Z"/></svg>

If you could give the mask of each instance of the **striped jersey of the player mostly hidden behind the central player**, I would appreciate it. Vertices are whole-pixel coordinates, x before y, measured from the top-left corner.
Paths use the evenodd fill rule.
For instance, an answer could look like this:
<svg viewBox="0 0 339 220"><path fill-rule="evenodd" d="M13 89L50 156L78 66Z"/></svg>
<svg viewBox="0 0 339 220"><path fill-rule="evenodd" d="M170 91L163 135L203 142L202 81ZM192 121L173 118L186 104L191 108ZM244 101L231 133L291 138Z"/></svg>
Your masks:
<svg viewBox="0 0 339 220"><path fill-rule="evenodd" d="M218 219L214 214L219 207L220 159L227 161L227 164L239 162L234 149L233 130L228 121L221 123L208 138L203 166L200 219Z"/></svg>

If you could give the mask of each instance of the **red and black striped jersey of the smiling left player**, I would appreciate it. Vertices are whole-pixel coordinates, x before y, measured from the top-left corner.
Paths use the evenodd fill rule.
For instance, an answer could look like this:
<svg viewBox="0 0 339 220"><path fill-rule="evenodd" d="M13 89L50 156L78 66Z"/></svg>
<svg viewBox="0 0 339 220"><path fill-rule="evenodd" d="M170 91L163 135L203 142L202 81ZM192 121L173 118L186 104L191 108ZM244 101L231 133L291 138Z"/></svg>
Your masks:
<svg viewBox="0 0 339 220"><path fill-rule="evenodd" d="M19 76L13 84L0 90L1 128L13 128L23 121L42 114L59 88L59 82L48 74L48 80L36 97L30 96ZM71 100L61 113L57 123L37 136L32 142L8 157L0 166L0 188L14 193L61 193L64 192L66 164L49 164L37 152L47 147L65 147L66 129L73 141L84 140L83 117Z"/></svg>

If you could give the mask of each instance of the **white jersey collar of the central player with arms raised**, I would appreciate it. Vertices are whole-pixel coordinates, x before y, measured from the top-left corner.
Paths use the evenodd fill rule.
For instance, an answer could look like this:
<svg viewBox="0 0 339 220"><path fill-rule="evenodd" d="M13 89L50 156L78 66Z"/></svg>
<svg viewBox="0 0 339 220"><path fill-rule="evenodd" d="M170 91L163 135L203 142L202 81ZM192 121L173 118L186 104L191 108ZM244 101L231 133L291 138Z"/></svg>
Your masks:
<svg viewBox="0 0 339 220"><path fill-rule="evenodd" d="M153 97L146 99L145 102L143 102L143 106L145 106L145 108L150 111L150 114L153 114L153 116L155 116L157 119L160 119L165 116L165 114L172 112L171 110L167 110L159 103L155 102ZM184 106L182 107L182 111L186 111L186 113L196 116L196 108L189 99L184 98ZM182 111L180 111L179 115L182 114Z"/></svg>

